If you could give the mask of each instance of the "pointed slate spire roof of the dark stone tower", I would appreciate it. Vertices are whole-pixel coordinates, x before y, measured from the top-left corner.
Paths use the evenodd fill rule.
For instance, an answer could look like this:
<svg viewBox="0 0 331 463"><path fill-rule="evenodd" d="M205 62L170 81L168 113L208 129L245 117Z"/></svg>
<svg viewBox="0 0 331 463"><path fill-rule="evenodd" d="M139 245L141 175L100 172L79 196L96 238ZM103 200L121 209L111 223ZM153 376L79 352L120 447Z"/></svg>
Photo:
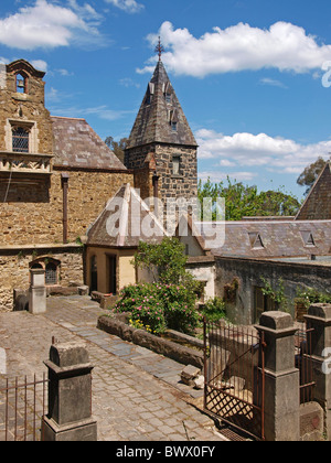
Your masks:
<svg viewBox="0 0 331 463"><path fill-rule="evenodd" d="M177 131L171 122L177 122ZM127 149L153 142L197 146L161 61L148 84Z"/></svg>

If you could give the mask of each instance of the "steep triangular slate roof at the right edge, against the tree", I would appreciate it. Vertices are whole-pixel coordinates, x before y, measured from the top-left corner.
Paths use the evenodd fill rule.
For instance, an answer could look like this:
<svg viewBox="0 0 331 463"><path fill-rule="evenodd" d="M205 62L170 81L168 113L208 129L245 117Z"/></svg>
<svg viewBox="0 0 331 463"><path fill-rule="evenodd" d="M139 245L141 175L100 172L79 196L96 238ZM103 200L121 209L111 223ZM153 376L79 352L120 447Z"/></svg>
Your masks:
<svg viewBox="0 0 331 463"><path fill-rule="evenodd" d="M331 219L331 162L325 168L310 190L296 220L330 220Z"/></svg>

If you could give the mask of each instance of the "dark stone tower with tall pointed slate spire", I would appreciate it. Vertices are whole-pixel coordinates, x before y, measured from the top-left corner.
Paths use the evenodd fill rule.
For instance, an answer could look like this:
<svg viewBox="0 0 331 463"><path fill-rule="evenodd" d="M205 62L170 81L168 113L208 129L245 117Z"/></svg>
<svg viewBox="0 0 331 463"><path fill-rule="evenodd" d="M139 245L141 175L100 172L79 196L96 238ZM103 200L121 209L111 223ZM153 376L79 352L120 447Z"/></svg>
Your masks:
<svg viewBox="0 0 331 463"><path fill-rule="evenodd" d="M128 140L125 164L142 198L197 196L197 144L161 60ZM166 205L164 205L166 207Z"/></svg>

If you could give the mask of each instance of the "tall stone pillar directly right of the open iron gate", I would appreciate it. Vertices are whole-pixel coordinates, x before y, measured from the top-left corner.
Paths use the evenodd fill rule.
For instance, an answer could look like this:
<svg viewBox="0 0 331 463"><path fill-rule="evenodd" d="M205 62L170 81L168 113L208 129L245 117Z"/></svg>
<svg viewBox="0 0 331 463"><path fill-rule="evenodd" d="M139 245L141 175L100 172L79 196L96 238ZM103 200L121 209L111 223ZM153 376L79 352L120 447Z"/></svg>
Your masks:
<svg viewBox="0 0 331 463"><path fill-rule="evenodd" d="M259 326L265 348L265 438L300 440L300 378L295 368L293 321L285 312L263 313Z"/></svg>

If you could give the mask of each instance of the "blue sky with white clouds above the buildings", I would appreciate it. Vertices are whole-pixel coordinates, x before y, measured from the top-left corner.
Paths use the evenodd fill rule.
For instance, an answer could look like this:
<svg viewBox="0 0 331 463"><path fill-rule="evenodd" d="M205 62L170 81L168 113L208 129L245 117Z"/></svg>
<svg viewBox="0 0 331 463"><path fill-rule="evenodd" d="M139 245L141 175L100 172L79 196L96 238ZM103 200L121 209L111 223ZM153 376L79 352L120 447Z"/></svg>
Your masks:
<svg viewBox="0 0 331 463"><path fill-rule="evenodd" d="M301 197L331 153L331 3L270 0L1 0L0 61L46 71L53 116L128 137L162 61L199 142L200 177Z"/></svg>

